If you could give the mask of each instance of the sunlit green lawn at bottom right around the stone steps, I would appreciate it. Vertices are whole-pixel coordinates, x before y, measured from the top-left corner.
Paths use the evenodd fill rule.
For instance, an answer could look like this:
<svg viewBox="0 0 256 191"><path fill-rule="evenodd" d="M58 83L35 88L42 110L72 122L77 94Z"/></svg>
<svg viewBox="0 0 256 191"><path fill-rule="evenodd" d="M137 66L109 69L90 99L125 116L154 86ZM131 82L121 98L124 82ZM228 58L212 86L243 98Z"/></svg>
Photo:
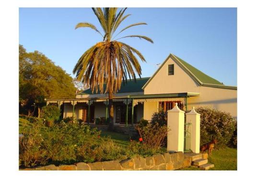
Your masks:
<svg viewBox="0 0 256 191"><path fill-rule="evenodd" d="M228 148L212 150L208 162L214 164L210 170L237 170L237 149ZM199 170L196 167L184 168L181 170Z"/></svg>

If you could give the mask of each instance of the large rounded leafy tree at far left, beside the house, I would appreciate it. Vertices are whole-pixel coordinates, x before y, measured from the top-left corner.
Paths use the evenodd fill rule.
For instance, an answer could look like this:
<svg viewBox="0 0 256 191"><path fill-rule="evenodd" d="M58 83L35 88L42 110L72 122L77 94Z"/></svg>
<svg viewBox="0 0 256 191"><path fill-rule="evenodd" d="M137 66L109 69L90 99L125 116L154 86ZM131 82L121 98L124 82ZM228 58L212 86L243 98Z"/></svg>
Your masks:
<svg viewBox="0 0 256 191"><path fill-rule="evenodd" d="M56 66L43 53L27 53L19 45L19 102L24 113L36 103L38 108L45 98L74 98L76 88L72 77ZM32 108L34 109L34 108Z"/></svg>

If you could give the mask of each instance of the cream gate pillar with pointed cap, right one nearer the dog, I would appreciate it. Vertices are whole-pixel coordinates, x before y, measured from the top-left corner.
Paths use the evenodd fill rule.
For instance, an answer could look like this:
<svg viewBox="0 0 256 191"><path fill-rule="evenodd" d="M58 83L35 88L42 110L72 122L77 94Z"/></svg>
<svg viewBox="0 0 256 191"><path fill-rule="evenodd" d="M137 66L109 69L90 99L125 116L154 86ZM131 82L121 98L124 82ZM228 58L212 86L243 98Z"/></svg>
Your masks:
<svg viewBox="0 0 256 191"><path fill-rule="evenodd" d="M195 107L186 113L186 123L191 123L191 150L194 153L200 152L200 114L195 111Z"/></svg>

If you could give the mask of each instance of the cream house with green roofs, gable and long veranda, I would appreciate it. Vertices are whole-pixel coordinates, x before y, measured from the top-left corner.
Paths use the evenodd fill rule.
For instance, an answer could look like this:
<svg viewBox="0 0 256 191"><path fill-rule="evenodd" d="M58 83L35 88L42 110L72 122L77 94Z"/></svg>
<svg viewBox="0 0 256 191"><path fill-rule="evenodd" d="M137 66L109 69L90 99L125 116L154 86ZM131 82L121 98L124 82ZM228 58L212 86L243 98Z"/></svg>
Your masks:
<svg viewBox="0 0 256 191"><path fill-rule="evenodd" d="M170 54L151 76L128 80L114 97L114 124L133 125L142 117L151 120L154 112L172 109L175 103L182 110L192 106L209 106L237 117L237 87L202 73L181 58ZM108 117L108 95L91 89L75 99L47 99L63 108L63 117L75 115L88 123L96 117Z"/></svg>

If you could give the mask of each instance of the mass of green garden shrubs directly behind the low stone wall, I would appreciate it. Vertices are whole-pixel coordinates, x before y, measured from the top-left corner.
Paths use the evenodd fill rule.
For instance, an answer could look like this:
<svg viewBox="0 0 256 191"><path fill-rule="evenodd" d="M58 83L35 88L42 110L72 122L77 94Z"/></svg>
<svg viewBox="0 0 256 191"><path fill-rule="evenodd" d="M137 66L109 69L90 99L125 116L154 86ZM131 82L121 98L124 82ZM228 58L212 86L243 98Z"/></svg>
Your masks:
<svg viewBox="0 0 256 191"><path fill-rule="evenodd" d="M52 127L37 120L32 127L20 129L20 135L20 168L122 160L164 152L145 148L139 139L130 141L127 146L117 144L109 137L101 137L101 131L79 124L77 120L73 123L61 121Z"/></svg>

